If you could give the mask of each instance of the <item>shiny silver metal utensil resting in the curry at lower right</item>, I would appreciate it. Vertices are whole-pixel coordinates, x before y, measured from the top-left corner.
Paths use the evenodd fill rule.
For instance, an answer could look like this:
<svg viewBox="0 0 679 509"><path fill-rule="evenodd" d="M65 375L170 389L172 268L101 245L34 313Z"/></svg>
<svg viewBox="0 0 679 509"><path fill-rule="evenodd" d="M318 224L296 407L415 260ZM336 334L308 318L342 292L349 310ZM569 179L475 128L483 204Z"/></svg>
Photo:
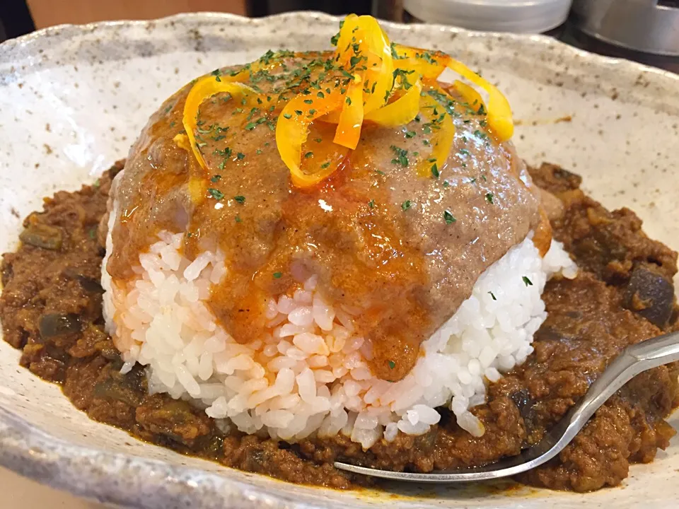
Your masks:
<svg viewBox="0 0 679 509"><path fill-rule="evenodd" d="M347 472L364 474L397 481L431 483L455 483L499 479L526 472L548 462L566 447L585 426L594 412L629 380L651 368L679 361L679 332L642 341L629 346L608 365L599 378L589 387L578 404L557 423L539 443L528 447L520 455L507 457L484 467L436 471L428 474L412 472L390 472L389 470L359 467L353 464L335 462L335 467Z"/></svg>

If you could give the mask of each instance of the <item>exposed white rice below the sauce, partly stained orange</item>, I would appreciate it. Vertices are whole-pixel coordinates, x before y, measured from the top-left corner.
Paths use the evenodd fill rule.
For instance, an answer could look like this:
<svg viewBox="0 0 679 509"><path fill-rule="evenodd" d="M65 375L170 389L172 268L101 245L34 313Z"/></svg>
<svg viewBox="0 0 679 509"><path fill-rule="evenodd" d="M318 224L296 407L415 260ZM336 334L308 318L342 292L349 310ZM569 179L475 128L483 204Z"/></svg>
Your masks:
<svg viewBox="0 0 679 509"><path fill-rule="evenodd" d="M111 223L114 217L115 210ZM388 382L368 369L370 346L354 329L359 310L328 302L315 276L293 270L298 288L269 299L267 334L238 344L207 305L226 274L224 254L204 252L191 262L181 254L182 233L158 237L140 254L136 279L118 286L103 269L104 315L122 370L145 365L152 392L190 399L220 426L289 442L342 432L368 448L398 431L426 433L440 419L437 406L483 435L469 409L486 401L487 382L533 351L547 316L540 298L547 279L577 271L559 242L542 258L526 238L480 276L470 298L422 344L412 371ZM110 233L107 244L110 252Z"/></svg>

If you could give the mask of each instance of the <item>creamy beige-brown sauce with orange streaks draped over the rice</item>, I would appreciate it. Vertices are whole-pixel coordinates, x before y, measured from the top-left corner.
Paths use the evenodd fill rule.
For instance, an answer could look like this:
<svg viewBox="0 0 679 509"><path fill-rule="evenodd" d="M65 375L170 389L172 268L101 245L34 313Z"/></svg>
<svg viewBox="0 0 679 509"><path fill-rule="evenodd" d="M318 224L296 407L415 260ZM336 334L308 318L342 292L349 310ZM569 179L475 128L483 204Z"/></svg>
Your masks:
<svg viewBox="0 0 679 509"><path fill-rule="evenodd" d="M366 122L355 151L332 144L334 125L315 122L302 147L311 153L303 168L327 160L340 161L340 169L316 187L297 189L277 151L273 129L284 103L276 102L275 88L314 57L286 59L287 70L272 72L271 81L246 81L263 98L274 96L259 112L224 94L202 104L198 134L207 173L173 141L183 130L190 86L161 106L117 180L120 217L108 271L114 279L132 276L139 252L162 229L187 233L189 257L221 248L229 272L212 291L211 309L245 342L265 329L267 298L294 291L293 267L304 267L318 274L329 298L361 308L373 374L399 380L482 271L538 228L539 197L511 143L498 144L486 117L454 91L455 139L438 178L417 172L436 141L436 129L427 127L431 114L422 112L419 122L400 128ZM393 147L407 151L407 166Z"/></svg>

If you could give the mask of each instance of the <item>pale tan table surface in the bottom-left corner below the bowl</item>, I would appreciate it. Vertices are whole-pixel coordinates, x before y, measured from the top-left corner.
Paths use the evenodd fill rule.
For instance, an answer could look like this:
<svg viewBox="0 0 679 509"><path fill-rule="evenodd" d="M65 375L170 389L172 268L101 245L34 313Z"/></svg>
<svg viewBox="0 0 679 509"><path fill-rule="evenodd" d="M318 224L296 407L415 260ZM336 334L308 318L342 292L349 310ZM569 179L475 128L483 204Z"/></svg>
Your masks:
<svg viewBox="0 0 679 509"><path fill-rule="evenodd" d="M0 493L0 509L105 509L105 505L42 486L4 468L0 468Z"/></svg>

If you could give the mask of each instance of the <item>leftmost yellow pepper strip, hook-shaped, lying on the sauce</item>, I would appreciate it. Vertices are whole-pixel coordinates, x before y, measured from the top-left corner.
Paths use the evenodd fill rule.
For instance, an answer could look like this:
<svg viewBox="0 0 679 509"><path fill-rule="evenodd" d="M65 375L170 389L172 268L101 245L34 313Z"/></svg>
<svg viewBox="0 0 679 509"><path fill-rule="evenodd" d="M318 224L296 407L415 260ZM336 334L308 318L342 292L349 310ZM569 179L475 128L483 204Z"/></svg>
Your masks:
<svg viewBox="0 0 679 509"><path fill-rule="evenodd" d="M200 105L204 101L211 98L213 95L218 93L230 93L233 98L245 97L245 98L256 98L257 92L243 83L227 83L224 81L216 81L215 76L204 76L200 78L193 88L191 88L189 95L186 97L186 103L184 105L184 116L182 117L182 123L184 124L184 129L186 135L189 138L191 150L193 155L198 160L199 165L205 170L207 170L207 165L203 158L202 153L196 144L195 129L198 127L198 111Z"/></svg>

